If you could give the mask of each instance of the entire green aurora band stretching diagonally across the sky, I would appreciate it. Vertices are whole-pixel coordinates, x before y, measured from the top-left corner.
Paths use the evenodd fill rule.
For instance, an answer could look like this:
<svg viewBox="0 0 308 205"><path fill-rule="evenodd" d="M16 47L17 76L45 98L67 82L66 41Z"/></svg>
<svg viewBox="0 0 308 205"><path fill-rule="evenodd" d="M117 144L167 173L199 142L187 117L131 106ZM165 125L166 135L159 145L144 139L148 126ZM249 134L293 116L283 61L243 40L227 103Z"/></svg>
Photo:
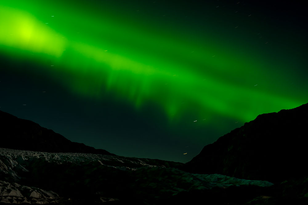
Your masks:
<svg viewBox="0 0 308 205"><path fill-rule="evenodd" d="M185 113L193 113L191 121L217 114L250 121L258 114L306 102L283 93L287 85L272 88L274 74L269 70L275 62L255 57L259 56L256 50L230 52L225 49L231 46L226 40L217 43L218 39L213 42L207 36L187 40L175 30L161 34L155 25L151 31L144 30L111 13L101 18L65 4L42 12L34 5L0 7L0 27L5 28L0 43L46 54L54 65L44 65L45 69L55 77L71 73L61 83L82 97L103 99L106 92L115 92L136 110L151 101L173 123L183 120ZM54 11L58 15L51 16Z"/></svg>

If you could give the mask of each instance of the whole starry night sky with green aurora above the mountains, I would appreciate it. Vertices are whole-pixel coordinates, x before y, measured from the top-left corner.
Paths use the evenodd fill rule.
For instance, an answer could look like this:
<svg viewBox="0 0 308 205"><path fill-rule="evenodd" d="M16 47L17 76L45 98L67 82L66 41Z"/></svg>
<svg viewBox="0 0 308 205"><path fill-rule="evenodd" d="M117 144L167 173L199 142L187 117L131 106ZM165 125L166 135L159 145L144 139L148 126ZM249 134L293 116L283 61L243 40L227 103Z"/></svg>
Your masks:
<svg viewBox="0 0 308 205"><path fill-rule="evenodd" d="M0 109L116 155L187 162L308 102L298 2L0 0Z"/></svg>

